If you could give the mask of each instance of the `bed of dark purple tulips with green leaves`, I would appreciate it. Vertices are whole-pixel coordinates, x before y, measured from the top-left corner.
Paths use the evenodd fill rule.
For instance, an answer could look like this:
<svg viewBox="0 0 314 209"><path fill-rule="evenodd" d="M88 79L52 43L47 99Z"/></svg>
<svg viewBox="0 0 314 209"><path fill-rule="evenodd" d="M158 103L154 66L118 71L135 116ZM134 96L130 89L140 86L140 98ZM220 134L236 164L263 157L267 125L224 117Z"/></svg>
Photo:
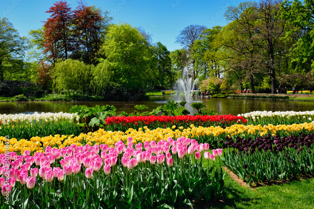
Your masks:
<svg viewBox="0 0 314 209"><path fill-rule="evenodd" d="M223 162L247 184L314 173L314 134L226 138Z"/></svg>

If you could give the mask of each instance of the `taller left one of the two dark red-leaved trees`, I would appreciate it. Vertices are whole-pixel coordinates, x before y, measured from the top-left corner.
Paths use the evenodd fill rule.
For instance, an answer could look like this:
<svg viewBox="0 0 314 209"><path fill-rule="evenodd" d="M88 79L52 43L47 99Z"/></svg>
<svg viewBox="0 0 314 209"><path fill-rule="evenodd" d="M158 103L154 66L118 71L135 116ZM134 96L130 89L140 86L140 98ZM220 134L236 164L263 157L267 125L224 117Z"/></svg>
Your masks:
<svg viewBox="0 0 314 209"><path fill-rule="evenodd" d="M46 13L51 13L50 18L44 21L44 53L55 63L58 59L68 59L72 50L71 25L73 14L70 6L65 1L53 4Z"/></svg>

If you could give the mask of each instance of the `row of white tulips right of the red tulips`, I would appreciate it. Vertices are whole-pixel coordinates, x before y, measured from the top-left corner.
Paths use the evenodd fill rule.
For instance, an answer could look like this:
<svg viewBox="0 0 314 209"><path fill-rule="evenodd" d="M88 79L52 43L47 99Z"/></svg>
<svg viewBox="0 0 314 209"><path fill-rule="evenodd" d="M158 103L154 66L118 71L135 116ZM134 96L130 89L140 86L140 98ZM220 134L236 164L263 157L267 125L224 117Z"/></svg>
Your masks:
<svg viewBox="0 0 314 209"><path fill-rule="evenodd" d="M250 124L293 124L293 123L314 123L314 111L253 111L239 114L248 120ZM313 118L313 119L312 119Z"/></svg>

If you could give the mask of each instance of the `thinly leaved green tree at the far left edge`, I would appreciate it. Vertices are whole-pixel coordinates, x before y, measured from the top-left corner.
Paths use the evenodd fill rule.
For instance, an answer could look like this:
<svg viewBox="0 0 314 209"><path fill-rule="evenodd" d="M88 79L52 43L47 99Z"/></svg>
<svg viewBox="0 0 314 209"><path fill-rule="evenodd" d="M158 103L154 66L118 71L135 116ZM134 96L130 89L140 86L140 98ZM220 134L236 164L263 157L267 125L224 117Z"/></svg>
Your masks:
<svg viewBox="0 0 314 209"><path fill-rule="evenodd" d="M29 41L26 37L20 37L8 18L0 19L0 81L4 80L4 72L16 72L12 65L17 64L23 58L25 51L29 49Z"/></svg>

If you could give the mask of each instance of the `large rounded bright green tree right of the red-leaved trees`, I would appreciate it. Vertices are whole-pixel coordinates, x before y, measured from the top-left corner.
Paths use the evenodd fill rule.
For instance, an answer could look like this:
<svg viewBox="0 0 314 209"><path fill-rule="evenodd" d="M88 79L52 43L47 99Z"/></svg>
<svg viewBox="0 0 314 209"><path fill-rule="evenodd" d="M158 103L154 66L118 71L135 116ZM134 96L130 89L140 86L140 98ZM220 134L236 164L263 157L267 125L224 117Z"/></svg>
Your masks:
<svg viewBox="0 0 314 209"><path fill-rule="evenodd" d="M126 23L112 25L101 51L113 64L113 81L127 90L146 88L154 77L147 41L138 29Z"/></svg>

